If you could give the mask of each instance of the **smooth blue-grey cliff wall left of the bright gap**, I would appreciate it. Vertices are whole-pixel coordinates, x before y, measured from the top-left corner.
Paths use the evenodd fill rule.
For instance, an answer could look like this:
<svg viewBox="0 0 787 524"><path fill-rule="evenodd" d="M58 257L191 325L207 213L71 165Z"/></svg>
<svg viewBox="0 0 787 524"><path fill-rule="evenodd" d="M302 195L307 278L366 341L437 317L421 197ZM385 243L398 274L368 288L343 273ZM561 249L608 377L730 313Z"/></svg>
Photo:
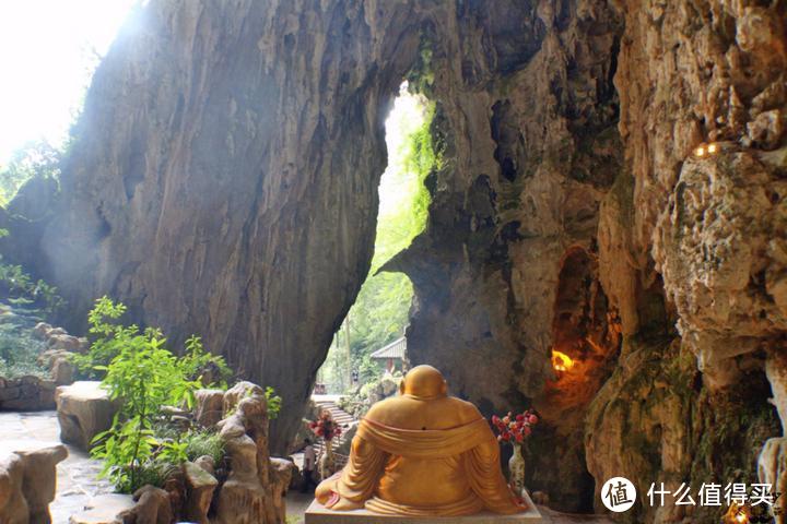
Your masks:
<svg viewBox="0 0 787 524"><path fill-rule="evenodd" d="M106 294L174 344L200 334L283 397L281 451L369 267L411 10L139 10L95 73L42 241L72 323Z"/></svg>

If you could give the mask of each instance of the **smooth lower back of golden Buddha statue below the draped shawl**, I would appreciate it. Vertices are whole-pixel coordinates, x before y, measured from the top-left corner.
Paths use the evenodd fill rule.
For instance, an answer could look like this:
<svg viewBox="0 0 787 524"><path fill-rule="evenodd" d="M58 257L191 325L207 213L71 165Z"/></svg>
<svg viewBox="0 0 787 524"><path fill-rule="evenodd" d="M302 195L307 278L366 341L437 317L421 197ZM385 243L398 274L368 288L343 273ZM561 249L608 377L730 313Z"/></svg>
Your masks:
<svg viewBox="0 0 787 524"><path fill-rule="evenodd" d="M376 495L388 502L412 507L447 505L474 497L460 456L434 460L392 456Z"/></svg>

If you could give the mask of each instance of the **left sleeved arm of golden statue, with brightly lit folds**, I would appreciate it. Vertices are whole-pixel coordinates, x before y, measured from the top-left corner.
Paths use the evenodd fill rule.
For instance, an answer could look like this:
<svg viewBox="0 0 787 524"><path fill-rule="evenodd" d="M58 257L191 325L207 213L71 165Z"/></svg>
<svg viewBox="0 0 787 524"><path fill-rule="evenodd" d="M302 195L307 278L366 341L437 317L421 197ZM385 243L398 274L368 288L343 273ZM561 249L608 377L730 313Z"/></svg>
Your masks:
<svg viewBox="0 0 787 524"><path fill-rule="evenodd" d="M338 511L363 508L374 495L387 458L387 453L355 436L348 464L339 476L320 484L317 500Z"/></svg>

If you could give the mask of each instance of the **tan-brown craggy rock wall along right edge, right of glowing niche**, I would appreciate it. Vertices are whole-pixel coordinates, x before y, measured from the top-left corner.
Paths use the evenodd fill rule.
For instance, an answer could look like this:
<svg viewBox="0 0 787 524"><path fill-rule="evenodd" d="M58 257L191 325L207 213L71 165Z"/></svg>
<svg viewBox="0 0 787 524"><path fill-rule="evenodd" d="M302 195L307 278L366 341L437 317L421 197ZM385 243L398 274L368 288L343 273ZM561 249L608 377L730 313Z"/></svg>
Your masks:
<svg viewBox="0 0 787 524"><path fill-rule="evenodd" d="M784 389L764 368L785 332L787 11L756 1L616 7L630 196L604 200L599 243L627 336L588 416L589 469L597 480L624 472L641 488L663 480L671 490L773 480L776 461L757 472L757 454L780 434L768 398L780 405ZM680 336L648 329L644 313L659 295ZM648 508L630 519L710 522L718 510Z"/></svg>

